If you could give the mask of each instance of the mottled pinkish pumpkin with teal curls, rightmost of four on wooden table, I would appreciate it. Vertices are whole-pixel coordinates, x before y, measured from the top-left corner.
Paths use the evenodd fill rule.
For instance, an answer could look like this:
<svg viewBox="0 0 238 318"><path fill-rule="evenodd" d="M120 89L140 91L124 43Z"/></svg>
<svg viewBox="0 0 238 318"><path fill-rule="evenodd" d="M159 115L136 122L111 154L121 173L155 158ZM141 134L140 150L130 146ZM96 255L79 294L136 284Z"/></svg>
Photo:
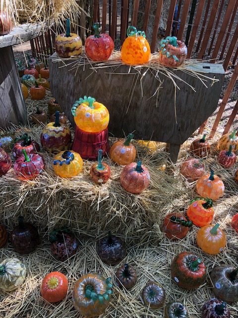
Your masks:
<svg viewBox="0 0 238 318"><path fill-rule="evenodd" d="M185 43L177 40L176 36L167 36L160 41L159 62L164 66L177 68L183 64L187 57Z"/></svg>

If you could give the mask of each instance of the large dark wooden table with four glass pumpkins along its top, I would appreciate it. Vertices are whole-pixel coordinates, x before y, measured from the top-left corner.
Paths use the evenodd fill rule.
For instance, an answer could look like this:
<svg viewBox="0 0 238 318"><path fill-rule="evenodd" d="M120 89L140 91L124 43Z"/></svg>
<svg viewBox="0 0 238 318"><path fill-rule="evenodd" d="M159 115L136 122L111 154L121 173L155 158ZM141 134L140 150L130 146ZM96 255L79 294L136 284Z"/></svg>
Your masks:
<svg viewBox="0 0 238 318"><path fill-rule="evenodd" d="M180 145L216 110L225 76L221 64L194 62L189 66L191 71L211 78L205 87L191 74L171 70L195 88L194 91L176 79L180 89L176 90L175 107L175 86L165 74L159 74L160 84L150 71L140 80L141 75L127 65L109 65L93 72L91 66L85 64L76 72L70 71L72 60L65 60L66 66L62 67L60 61L53 63L56 59L55 53L49 61L51 91L72 124L70 109L74 101L84 95L95 97L109 109L109 132L113 136L124 137L134 132L135 139L166 142L174 162ZM141 74L146 70L142 67Z"/></svg>

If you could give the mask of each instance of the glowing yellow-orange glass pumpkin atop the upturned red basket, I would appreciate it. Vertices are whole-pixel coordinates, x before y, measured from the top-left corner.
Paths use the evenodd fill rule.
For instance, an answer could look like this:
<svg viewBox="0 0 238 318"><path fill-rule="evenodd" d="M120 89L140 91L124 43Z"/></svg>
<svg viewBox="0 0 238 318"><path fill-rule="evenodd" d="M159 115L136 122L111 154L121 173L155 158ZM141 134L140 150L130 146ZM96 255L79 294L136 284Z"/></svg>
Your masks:
<svg viewBox="0 0 238 318"><path fill-rule="evenodd" d="M75 124L88 133L105 130L109 124L109 111L95 98L84 96L76 100L71 108Z"/></svg>

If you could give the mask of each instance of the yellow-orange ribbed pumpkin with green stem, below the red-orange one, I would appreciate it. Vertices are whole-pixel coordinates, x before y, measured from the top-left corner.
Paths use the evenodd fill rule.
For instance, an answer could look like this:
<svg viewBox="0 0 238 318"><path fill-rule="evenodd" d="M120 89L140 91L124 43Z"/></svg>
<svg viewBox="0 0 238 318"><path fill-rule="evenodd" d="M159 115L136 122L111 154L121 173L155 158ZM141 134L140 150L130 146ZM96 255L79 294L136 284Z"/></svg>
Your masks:
<svg viewBox="0 0 238 318"><path fill-rule="evenodd" d="M197 245L208 254L220 253L227 244L225 233L219 228L219 224L206 225L197 233Z"/></svg>

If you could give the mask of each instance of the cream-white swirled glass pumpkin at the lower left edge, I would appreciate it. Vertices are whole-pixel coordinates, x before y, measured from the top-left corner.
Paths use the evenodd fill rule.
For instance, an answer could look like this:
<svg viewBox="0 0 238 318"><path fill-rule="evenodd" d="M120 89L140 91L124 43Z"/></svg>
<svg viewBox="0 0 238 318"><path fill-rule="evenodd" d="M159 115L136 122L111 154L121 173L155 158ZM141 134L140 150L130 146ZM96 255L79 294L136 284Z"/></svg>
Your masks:
<svg viewBox="0 0 238 318"><path fill-rule="evenodd" d="M0 290L11 292L26 278L26 266L18 258L5 258L0 262Z"/></svg>

